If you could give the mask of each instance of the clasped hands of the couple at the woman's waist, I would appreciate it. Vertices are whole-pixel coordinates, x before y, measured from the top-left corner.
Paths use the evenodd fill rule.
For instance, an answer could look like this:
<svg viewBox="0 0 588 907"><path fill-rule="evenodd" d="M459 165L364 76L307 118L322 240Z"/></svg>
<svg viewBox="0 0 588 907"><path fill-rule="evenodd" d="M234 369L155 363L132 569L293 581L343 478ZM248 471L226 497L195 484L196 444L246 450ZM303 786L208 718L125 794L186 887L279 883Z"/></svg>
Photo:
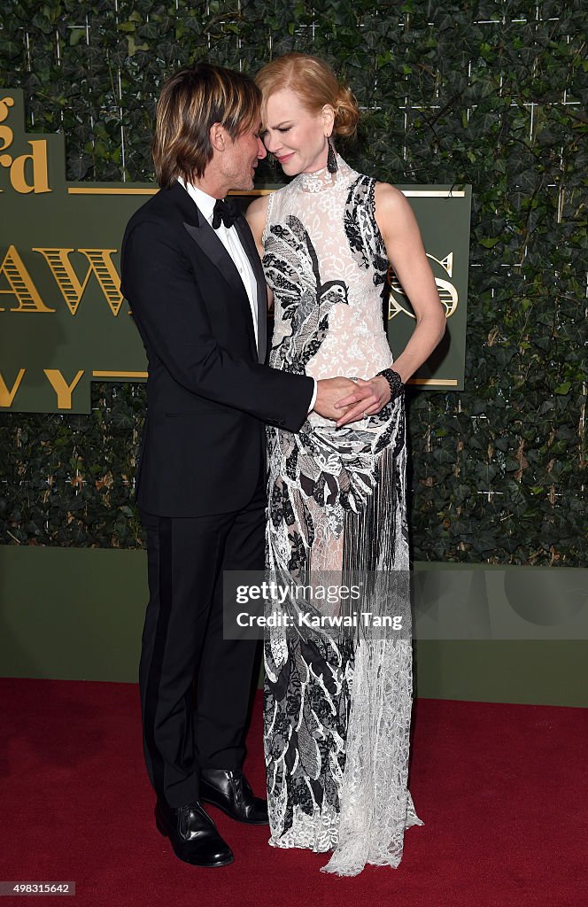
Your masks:
<svg viewBox="0 0 588 907"><path fill-rule="evenodd" d="M313 412L330 419L338 428L358 422L367 415L379 413L390 399L386 378L376 375L363 378L322 378L317 382L317 399Z"/></svg>

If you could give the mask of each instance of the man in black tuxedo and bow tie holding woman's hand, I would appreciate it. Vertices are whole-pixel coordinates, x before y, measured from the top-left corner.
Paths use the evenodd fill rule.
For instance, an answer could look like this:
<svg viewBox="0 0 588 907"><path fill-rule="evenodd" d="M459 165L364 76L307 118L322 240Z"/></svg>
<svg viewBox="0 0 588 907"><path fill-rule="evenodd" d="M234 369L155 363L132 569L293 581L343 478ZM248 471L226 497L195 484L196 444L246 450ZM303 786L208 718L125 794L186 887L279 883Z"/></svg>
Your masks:
<svg viewBox="0 0 588 907"><path fill-rule="evenodd" d="M255 644L222 637L223 571L264 566L264 423L295 432L312 408L340 420L341 398L374 401L348 378L263 365L260 259L245 219L219 201L252 188L259 130L247 76L207 63L172 75L153 140L162 188L122 245L122 290L149 362L137 479L150 588L143 745L157 826L198 866L233 859L203 802L268 821L241 771Z"/></svg>

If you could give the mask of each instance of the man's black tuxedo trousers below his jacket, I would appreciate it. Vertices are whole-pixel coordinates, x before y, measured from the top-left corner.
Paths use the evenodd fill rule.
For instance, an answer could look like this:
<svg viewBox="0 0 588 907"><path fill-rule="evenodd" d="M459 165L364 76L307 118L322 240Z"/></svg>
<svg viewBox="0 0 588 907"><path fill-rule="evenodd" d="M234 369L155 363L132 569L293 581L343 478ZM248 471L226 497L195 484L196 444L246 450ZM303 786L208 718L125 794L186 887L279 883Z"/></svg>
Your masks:
<svg viewBox="0 0 588 907"><path fill-rule="evenodd" d="M260 471L262 472L262 471ZM257 643L223 639L222 572L263 570L265 484L239 512L142 512L150 599L139 667L143 749L158 796L199 796L200 768L237 769Z"/></svg>

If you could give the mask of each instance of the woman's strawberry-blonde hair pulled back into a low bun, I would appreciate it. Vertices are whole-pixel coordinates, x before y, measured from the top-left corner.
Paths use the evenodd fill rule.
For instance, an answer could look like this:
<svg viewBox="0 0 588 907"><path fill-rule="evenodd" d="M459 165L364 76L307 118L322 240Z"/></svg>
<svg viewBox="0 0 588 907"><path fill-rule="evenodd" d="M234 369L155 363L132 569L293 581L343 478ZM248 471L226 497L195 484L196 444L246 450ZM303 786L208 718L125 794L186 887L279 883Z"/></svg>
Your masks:
<svg viewBox="0 0 588 907"><path fill-rule="evenodd" d="M357 132L358 102L345 85L338 83L337 76L324 60L310 54L284 54L264 66L255 81L263 94L263 120L270 95L289 88L298 94L309 113L319 113L325 104L330 104L335 111L333 132L336 135L348 137Z"/></svg>

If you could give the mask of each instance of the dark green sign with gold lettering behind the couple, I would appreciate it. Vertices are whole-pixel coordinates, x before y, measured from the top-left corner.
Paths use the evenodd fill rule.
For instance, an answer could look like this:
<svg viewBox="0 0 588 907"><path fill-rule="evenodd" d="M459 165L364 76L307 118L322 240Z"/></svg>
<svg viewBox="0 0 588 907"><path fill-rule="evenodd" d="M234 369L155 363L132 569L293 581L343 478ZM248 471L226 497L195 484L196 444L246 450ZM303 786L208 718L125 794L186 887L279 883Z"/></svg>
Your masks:
<svg viewBox="0 0 588 907"><path fill-rule="evenodd" d="M92 381L146 377L119 261L127 220L157 188L67 182L64 136L26 134L24 123L23 92L1 91L0 408L89 413ZM445 341L411 384L461 390L471 190L398 188L417 216L447 316ZM244 194L243 202L270 190ZM394 274L384 314L399 351L415 321Z"/></svg>

